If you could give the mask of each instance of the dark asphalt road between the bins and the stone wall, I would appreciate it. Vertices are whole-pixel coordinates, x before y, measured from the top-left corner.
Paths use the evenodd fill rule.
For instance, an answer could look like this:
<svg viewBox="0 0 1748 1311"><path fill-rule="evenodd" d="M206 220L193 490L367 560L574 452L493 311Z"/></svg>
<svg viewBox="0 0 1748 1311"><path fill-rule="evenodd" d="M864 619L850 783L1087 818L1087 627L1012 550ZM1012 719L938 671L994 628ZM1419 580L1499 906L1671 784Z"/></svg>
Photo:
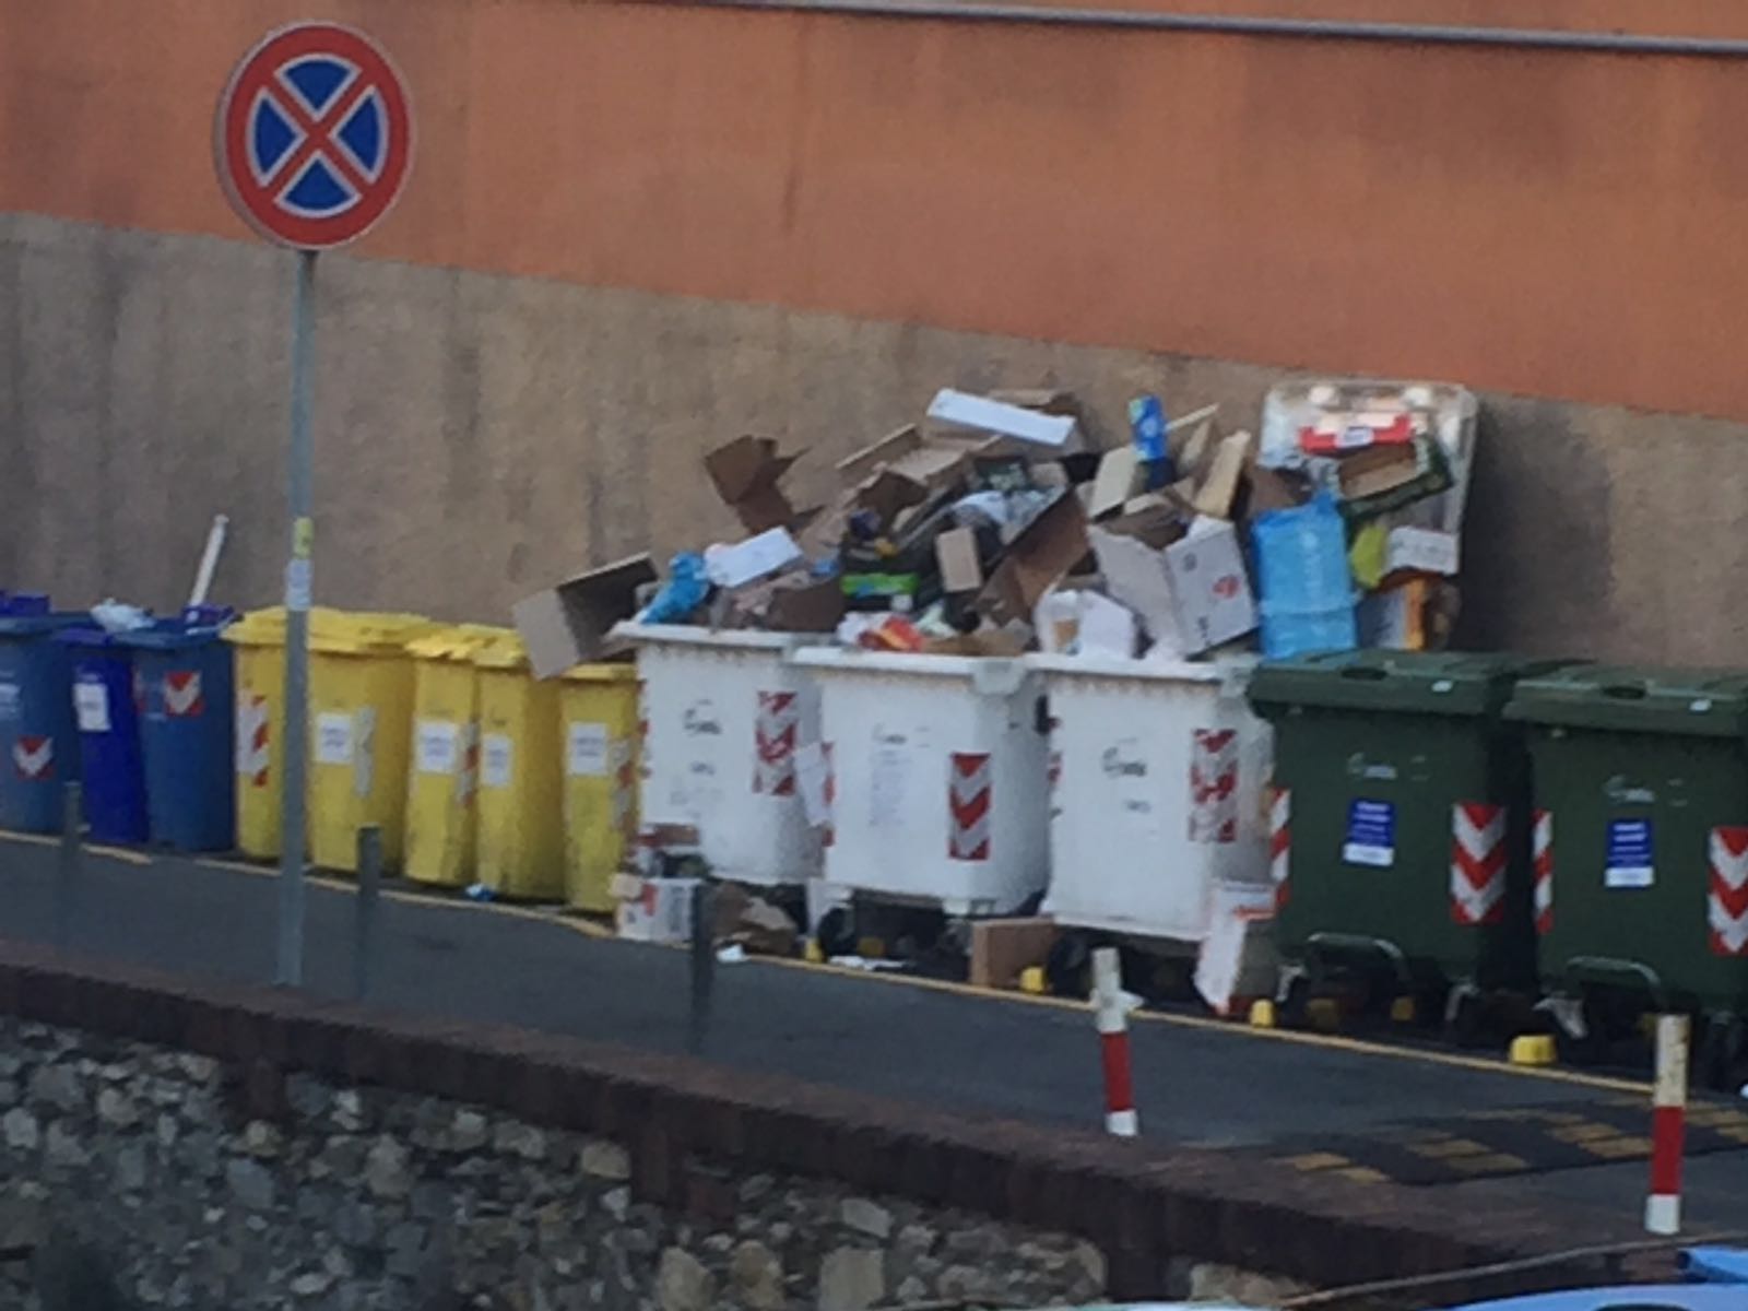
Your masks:
<svg viewBox="0 0 1748 1311"><path fill-rule="evenodd" d="M52 846L0 837L0 935L52 940ZM79 953L267 982L276 886L264 872L87 853L73 905ZM341 996L353 968L355 898L311 886L306 979ZM687 956L589 937L545 914L392 897L383 902L372 1002L683 1051ZM748 960L717 972L706 1059L848 1086L960 1113L1096 1127L1098 1042L1075 1007ZM1601 1096L1584 1082L1437 1052L1388 1051L1243 1026L1133 1026L1136 1101L1150 1138L1253 1147L1363 1133L1477 1110ZM1748 1203L1748 1154L1692 1162L1692 1215L1725 1224ZM1449 1185L1458 1197L1606 1201L1631 1215L1643 1162Z"/></svg>

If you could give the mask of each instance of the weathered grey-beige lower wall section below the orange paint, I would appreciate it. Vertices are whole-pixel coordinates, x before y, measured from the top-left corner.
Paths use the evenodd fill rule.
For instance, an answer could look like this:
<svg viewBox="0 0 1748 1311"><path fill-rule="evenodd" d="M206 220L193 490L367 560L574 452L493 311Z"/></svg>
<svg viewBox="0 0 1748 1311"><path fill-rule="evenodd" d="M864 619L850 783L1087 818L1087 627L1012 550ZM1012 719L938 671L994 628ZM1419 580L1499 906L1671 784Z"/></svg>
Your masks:
<svg viewBox="0 0 1748 1311"><path fill-rule="evenodd" d="M327 257L318 589L503 621L589 563L732 531L697 458L739 432L830 463L935 388L1063 385L1253 423L1276 369ZM170 605L232 516L218 594L283 556L290 260L213 238L0 218L0 586ZM1748 427L1488 397L1470 643L1738 657Z"/></svg>

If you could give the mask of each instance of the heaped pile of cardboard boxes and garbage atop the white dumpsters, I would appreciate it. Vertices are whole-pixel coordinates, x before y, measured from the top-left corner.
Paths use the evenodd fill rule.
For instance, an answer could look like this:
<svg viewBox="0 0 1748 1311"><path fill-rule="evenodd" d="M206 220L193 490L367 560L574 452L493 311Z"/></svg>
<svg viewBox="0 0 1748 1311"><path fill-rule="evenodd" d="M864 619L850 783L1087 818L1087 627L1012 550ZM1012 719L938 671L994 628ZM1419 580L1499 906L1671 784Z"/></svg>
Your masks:
<svg viewBox="0 0 1748 1311"><path fill-rule="evenodd" d="M951 656L1280 657L1449 638L1467 390L1287 383L1260 439L1222 427L1218 406L1168 416L1154 395L1127 420L1126 442L1099 442L1068 392L942 390L918 423L839 461L837 493L811 509L783 486L797 453L738 437L704 474L745 537L675 556L659 584L647 558L563 584L551 659L591 657L579 605ZM537 671L540 605L517 608Z"/></svg>

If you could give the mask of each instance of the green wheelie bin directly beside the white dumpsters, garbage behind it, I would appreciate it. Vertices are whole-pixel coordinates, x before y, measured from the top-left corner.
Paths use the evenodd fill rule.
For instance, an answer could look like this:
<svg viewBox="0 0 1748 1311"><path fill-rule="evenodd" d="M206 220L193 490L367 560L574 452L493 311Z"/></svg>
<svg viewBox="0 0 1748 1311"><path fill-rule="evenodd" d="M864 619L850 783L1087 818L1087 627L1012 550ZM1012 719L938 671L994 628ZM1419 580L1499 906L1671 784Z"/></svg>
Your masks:
<svg viewBox="0 0 1748 1311"><path fill-rule="evenodd" d="M1502 711L1549 668L1386 650L1259 666L1287 1023L1334 993L1397 1019L1442 1009L1470 1040L1489 1002L1533 993L1530 769Z"/></svg>

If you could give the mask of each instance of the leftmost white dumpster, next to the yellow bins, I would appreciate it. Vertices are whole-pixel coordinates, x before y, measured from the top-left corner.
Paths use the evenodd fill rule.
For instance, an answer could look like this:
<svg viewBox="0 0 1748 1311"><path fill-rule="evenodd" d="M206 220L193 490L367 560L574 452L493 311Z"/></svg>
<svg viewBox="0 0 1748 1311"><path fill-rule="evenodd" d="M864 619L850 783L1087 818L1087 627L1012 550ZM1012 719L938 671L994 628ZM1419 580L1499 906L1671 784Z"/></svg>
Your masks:
<svg viewBox="0 0 1748 1311"><path fill-rule="evenodd" d="M795 787L795 748L818 738L820 697L792 649L818 635L621 624L638 652L645 825L697 829L710 872L804 883L820 836Z"/></svg>

